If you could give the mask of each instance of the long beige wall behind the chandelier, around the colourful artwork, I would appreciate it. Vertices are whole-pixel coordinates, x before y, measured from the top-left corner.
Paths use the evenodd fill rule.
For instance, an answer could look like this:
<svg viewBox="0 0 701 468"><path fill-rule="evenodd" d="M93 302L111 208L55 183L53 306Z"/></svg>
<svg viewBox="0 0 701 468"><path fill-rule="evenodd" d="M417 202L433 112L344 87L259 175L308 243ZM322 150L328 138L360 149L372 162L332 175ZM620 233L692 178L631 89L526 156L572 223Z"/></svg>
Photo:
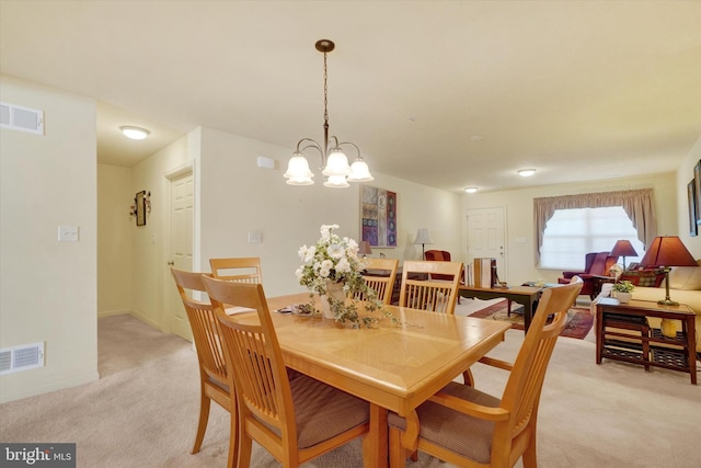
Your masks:
<svg viewBox="0 0 701 468"><path fill-rule="evenodd" d="M314 185L291 186L283 178L292 149L234 135L203 129L202 135L202 255L199 267L209 271L214 256L260 256L266 294L303 290L297 285L297 251L319 239L322 224L337 224L340 233L359 239L359 185L327 189L321 174ZM275 170L256 167L264 156L277 161ZM319 159L309 157L310 165ZM371 161L368 161L371 165ZM375 174L369 184L398 194L398 247L382 249L387 256L417 259L417 228L428 228L436 248L458 251L460 195L395 178ZM262 243L248 243L248 232L262 232ZM380 250L374 251L378 256Z"/></svg>

